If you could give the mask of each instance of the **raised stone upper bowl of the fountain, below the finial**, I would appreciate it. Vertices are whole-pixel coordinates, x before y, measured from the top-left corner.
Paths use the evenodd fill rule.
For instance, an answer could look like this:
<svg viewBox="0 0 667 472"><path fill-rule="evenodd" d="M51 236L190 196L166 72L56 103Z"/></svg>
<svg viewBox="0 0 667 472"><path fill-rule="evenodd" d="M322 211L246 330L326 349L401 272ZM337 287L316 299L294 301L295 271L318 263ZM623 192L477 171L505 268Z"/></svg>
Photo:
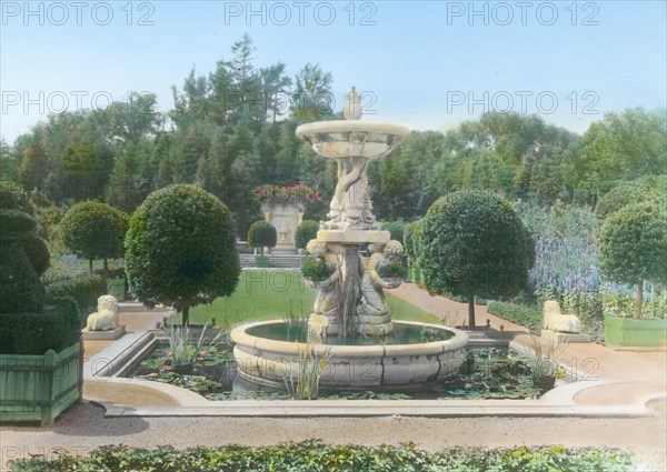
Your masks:
<svg viewBox="0 0 667 472"><path fill-rule="evenodd" d="M301 124L297 137L325 158L376 159L387 155L409 134L405 127L355 120L318 121Z"/></svg>

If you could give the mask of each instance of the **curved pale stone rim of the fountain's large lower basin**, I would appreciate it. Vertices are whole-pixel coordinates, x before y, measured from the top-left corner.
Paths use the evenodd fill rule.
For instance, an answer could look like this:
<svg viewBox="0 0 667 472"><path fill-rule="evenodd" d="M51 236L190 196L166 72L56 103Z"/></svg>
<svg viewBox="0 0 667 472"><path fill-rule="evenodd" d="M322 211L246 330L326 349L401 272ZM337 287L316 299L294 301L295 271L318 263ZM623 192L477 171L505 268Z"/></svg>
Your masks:
<svg viewBox="0 0 667 472"><path fill-rule="evenodd" d="M385 356L405 356L405 355L426 355L441 353L445 351L456 351L462 349L468 343L468 334L457 330L456 328L441 327L439 324L420 323L417 321L392 321L395 324L409 324L420 328L430 328L454 333L454 337L442 341L429 341L411 344L370 344L370 345L338 345L338 344L312 344L316 353L323 353L329 350L332 358L337 356L368 356L380 354ZM235 328L230 332L230 339L235 344L246 345L259 349L261 351L270 351L280 354L298 355L299 350L306 349L308 345L305 342L296 341L277 341L268 338L260 338L248 334L247 330L267 324L281 324L282 320L258 321L255 323L243 324ZM257 341L261 341L261 345L256 345Z"/></svg>

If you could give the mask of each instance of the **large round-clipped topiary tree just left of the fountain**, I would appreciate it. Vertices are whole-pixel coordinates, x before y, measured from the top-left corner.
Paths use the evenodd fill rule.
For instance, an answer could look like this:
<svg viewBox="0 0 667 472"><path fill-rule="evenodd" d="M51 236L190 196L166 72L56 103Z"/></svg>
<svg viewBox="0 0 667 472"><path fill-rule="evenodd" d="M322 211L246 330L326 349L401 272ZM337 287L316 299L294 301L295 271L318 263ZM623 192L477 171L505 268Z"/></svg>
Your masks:
<svg viewBox="0 0 667 472"><path fill-rule="evenodd" d="M197 185L158 190L141 203L126 234L130 292L149 307L182 311L231 294L241 272L231 212Z"/></svg>

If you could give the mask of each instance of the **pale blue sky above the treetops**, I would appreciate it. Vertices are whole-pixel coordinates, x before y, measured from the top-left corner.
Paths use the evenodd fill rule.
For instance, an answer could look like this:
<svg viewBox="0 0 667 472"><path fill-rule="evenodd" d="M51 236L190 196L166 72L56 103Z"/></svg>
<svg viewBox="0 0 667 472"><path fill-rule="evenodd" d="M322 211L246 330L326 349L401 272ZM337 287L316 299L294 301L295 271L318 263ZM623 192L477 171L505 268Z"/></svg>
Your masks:
<svg viewBox="0 0 667 472"><path fill-rule="evenodd" d="M627 107L665 107L665 1L1 2L0 134L130 91L172 107L248 32L255 64L307 62L376 114L441 130L484 111L537 113L584 132ZM93 100L94 98L94 100Z"/></svg>

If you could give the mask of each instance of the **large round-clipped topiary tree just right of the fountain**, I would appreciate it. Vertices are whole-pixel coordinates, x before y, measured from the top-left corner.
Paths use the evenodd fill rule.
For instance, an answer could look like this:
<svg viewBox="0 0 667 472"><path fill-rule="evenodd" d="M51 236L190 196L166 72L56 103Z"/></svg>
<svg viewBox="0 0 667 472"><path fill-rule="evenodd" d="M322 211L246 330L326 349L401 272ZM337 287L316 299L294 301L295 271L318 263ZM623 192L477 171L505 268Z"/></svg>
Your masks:
<svg viewBox="0 0 667 472"><path fill-rule="evenodd" d="M512 205L490 192L461 191L437 200L424 219L419 265L426 288L468 299L512 297L526 288L535 245Z"/></svg>

